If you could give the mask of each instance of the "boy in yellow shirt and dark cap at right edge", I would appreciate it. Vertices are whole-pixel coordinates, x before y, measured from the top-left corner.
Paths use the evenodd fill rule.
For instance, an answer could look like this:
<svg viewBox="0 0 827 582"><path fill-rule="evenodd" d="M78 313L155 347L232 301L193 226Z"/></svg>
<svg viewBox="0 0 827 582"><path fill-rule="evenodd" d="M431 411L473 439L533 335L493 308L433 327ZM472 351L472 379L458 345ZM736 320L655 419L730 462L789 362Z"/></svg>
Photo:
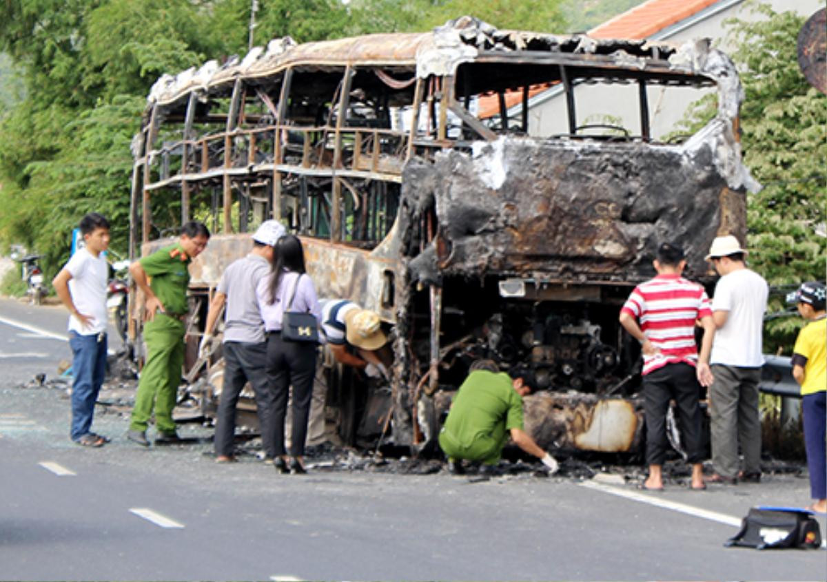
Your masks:
<svg viewBox="0 0 827 582"><path fill-rule="evenodd" d="M827 289L813 281L802 283L791 295L801 317L810 322L799 332L792 351L792 375L801 384L810 494L815 499L808 509L827 513Z"/></svg>

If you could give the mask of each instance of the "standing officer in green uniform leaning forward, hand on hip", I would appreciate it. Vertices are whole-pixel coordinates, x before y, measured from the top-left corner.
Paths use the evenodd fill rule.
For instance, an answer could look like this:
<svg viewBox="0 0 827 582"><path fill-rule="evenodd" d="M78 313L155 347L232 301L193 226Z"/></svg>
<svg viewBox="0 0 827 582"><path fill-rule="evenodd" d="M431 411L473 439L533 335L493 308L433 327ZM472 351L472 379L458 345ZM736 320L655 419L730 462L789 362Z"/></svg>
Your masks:
<svg viewBox="0 0 827 582"><path fill-rule="evenodd" d="M143 291L146 312L146 363L135 394L127 438L149 446L146 427L155 409L155 443L179 441L172 409L184 365L184 320L189 306L189 263L207 246L209 231L201 222L187 222L174 245L132 263L129 273Z"/></svg>

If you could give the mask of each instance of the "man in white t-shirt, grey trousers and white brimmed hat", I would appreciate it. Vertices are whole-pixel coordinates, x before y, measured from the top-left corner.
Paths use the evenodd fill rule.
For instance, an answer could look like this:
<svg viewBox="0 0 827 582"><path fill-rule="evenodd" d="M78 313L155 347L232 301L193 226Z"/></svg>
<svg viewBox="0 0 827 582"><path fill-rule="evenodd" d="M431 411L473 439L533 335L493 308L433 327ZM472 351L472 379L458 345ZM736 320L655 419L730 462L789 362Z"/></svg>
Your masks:
<svg viewBox="0 0 827 582"><path fill-rule="evenodd" d="M761 480L761 421L758 381L761 379L763 316L767 310L767 281L747 268L747 251L732 235L712 242L711 260L721 278L715 285L712 317L715 340L710 364L712 483L736 484ZM743 452L739 472L738 446Z"/></svg>

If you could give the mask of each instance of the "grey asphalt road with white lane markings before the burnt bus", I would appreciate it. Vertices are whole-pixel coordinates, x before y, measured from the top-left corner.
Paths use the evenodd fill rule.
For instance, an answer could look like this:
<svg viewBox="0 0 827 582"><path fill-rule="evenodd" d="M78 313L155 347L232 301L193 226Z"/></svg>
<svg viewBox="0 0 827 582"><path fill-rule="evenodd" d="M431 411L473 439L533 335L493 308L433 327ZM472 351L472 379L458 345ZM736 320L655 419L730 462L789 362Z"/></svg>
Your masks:
<svg viewBox="0 0 827 582"><path fill-rule="evenodd" d="M93 428L112 443L77 446L65 389L19 385L68 346L7 323L60 335L65 311L20 309L0 300L2 580L827 579L824 550L722 546L754 505L809 503L801 476L653 494L618 473L275 475L252 456L216 465L198 425L181 432L200 444L134 446L107 406Z"/></svg>

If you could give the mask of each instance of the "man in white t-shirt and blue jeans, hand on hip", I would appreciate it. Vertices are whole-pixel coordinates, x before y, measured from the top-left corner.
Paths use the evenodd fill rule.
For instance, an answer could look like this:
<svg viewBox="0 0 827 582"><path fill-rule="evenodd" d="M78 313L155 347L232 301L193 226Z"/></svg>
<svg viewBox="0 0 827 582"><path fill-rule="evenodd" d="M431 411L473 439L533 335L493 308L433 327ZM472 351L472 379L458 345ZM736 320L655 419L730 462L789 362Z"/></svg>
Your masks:
<svg viewBox="0 0 827 582"><path fill-rule="evenodd" d="M72 440L83 446L108 442L91 432L98 392L106 374L109 265L103 251L109 246L109 222L98 212L80 221L85 246L60 270L52 286L69 309L69 346L72 348Z"/></svg>

